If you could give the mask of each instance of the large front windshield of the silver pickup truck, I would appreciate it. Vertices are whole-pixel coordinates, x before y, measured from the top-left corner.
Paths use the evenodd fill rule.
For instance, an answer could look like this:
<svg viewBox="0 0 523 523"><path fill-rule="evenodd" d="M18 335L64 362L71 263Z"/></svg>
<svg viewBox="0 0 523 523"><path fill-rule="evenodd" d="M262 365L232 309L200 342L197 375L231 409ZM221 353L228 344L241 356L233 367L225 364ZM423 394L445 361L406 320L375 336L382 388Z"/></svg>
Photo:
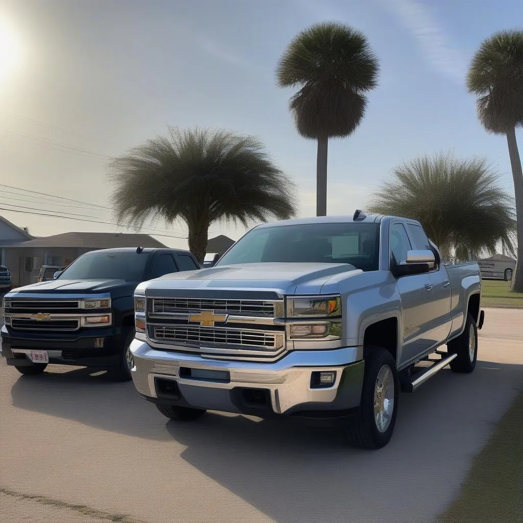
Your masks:
<svg viewBox="0 0 523 523"><path fill-rule="evenodd" d="M303 223L253 229L216 266L243 263L347 263L378 270L378 223Z"/></svg>

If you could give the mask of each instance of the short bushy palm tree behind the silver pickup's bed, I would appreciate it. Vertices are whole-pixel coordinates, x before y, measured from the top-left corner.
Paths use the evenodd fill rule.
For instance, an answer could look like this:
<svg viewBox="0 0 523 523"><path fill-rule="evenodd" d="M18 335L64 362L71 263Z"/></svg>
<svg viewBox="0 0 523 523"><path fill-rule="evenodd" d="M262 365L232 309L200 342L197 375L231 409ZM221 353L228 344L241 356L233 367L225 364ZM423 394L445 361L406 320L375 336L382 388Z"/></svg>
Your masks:
<svg viewBox="0 0 523 523"><path fill-rule="evenodd" d="M369 208L418 220L444 260L452 252L457 261L495 254L499 240L514 253L514 203L497 178L485 158L419 156L392 170L392 179L372 196Z"/></svg>

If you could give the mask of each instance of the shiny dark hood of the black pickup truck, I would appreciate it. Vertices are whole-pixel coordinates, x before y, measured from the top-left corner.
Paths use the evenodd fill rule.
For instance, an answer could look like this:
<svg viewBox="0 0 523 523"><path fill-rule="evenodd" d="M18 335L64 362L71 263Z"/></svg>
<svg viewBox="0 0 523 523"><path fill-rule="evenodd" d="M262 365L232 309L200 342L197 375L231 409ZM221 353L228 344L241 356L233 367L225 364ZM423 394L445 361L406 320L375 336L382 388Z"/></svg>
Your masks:
<svg viewBox="0 0 523 523"><path fill-rule="evenodd" d="M50 281L42 281L40 283L33 283L25 287L13 289L16 293L39 293L42 294L97 294L103 292L110 292L115 294L113 298L118 298L124 295L132 295L134 289L138 285L138 281L125 281L117 279L107 280L63 280L61 278Z"/></svg>

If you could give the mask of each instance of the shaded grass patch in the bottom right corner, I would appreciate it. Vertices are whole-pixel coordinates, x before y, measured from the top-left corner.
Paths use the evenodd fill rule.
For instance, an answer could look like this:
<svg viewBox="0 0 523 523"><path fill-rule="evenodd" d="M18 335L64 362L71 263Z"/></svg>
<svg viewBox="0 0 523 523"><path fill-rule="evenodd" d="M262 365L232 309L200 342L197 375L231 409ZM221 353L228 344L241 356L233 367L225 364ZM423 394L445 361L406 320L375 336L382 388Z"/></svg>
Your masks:
<svg viewBox="0 0 523 523"><path fill-rule="evenodd" d="M472 470L439 523L516 523L523 521L523 393L501 418L494 435L472 463Z"/></svg>

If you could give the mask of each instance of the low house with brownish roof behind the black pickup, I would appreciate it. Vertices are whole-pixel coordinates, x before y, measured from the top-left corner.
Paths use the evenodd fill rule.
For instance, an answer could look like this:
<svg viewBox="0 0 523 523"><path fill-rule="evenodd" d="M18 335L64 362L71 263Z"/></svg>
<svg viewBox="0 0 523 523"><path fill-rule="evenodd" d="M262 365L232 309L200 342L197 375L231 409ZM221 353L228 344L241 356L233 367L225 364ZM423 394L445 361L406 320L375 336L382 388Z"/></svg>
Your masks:
<svg viewBox="0 0 523 523"><path fill-rule="evenodd" d="M4 236L0 235L2 263L11 272L12 286L21 287L36 282L42 265L66 267L78 256L96 249L110 247L165 247L149 234L124 234L104 232L67 232L35 238L16 225L7 222ZM4 219L0 217L0 227ZM7 230L7 225L15 228ZM15 238L16 230L25 235ZM1 233L4 230L0 229ZM9 233L13 238L7 237Z"/></svg>

